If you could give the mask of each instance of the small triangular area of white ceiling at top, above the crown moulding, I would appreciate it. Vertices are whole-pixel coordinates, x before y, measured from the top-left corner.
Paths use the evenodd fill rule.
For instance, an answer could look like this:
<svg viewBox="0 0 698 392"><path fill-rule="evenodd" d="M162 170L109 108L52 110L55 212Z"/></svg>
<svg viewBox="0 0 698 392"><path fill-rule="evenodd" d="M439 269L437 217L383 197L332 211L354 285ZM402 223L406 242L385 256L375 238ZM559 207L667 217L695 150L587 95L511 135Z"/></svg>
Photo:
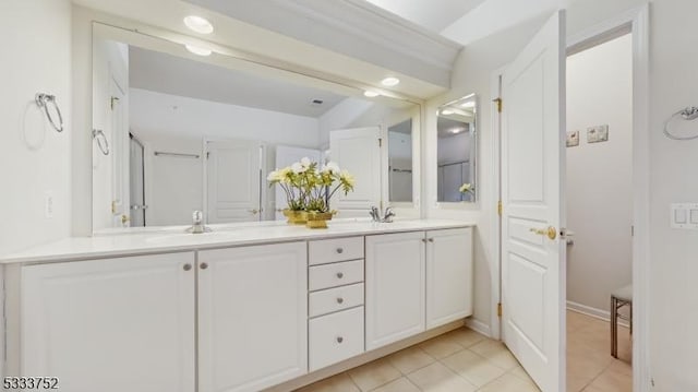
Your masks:
<svg viewBox="0 0 698 392"><path fill-rule="evenodd" d="M456 22L485 0L365 0L434 33Z"/></svg>

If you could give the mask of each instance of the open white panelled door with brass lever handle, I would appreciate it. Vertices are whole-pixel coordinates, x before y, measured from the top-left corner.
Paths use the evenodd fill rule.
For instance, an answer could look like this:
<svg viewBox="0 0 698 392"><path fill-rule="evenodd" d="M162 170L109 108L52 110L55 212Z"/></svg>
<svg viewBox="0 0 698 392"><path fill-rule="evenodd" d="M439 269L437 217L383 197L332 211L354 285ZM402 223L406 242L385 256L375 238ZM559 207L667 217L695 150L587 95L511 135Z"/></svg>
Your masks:
<svg viewBox="0 0 698 392"><path fill-rule="evenodd" d="M554 14L502 74L503 334L544 392L565 390L564 16Z"/></svg>

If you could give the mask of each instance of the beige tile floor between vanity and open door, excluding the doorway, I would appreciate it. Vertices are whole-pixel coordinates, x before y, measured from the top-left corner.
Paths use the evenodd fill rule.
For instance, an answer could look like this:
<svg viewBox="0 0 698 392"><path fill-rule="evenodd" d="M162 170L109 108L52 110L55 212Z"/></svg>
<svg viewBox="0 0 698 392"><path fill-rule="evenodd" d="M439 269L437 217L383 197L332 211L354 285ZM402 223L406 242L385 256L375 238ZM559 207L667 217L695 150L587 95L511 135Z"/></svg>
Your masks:
<svg viewBox="0 0 698 392"><path fill-rule="evenodd" d="M464 328L300 391L535 392L539 389L501 342Z"/></svg>

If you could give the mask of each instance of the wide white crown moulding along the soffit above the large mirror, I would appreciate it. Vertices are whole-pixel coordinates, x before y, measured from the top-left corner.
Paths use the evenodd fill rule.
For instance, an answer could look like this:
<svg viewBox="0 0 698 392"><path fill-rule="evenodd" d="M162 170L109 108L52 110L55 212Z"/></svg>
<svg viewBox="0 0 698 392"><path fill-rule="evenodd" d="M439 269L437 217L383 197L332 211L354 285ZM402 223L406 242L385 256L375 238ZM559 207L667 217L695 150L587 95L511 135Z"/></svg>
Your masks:
<svg viewBox="0 0 698 392"><path fill-rule="evenodd" d="M462 48L364 0L188 1L443 87Z"/></svg>

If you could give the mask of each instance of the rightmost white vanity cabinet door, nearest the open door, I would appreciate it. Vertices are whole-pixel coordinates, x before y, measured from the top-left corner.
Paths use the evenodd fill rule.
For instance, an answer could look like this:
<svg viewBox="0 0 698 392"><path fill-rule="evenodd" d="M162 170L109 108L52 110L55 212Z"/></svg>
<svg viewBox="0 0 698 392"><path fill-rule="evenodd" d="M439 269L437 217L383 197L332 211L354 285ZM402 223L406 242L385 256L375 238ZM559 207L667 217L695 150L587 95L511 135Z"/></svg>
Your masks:
<svg viewBox="0 0 698 392"><path fill-rule="evenodd" d="M426 328L434 328L472 314L472 228L426 238Z"/></svg>

